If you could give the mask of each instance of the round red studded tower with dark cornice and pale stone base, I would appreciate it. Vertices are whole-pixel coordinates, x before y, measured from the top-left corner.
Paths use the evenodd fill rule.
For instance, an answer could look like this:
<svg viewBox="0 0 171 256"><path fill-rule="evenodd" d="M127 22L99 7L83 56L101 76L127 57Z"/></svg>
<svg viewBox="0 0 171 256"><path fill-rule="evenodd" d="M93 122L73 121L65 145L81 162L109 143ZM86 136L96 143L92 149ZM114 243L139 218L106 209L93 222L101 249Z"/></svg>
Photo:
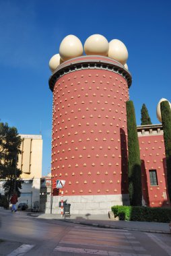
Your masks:
<svg viewBox="0 0 171 256"><path fill-rule="evenodd" d="M126 101L131 74L108 57L83 56L59 65L49 86L53 188L56 180L66 181L63 191L73 213L96 213L96 207L106 211L127 203ZM86 206L80 208L79 202Z"/></svg>

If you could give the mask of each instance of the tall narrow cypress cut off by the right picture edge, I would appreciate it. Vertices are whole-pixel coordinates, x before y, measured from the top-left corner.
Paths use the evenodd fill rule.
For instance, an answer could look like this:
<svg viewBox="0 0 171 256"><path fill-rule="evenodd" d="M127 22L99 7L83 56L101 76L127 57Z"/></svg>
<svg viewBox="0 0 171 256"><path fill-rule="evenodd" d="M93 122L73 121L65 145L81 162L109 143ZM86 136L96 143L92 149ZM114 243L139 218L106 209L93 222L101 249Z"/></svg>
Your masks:
<svg viewBox="0 0 171 256"><path fill-rule="evenodd" d="M164 146L166 152L168 195L171 201L171 109L168 101L160 103L162 125L164 129Z"/></svg>

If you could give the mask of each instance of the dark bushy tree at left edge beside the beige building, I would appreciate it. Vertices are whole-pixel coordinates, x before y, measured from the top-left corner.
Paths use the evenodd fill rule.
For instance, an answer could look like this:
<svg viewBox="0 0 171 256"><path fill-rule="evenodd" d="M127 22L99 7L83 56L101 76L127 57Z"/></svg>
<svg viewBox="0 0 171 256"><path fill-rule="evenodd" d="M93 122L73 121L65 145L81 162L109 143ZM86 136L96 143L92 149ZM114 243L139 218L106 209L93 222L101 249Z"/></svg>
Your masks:
<svg viewBox="0 0 171 256"><path fill-rule="evenodd" d="M0 123L0 179L5 181L3 188L8 202L13 192L20 196L22 188L22 181L19 179L22 171L17 168L21 142L15 127Z"/></svg>

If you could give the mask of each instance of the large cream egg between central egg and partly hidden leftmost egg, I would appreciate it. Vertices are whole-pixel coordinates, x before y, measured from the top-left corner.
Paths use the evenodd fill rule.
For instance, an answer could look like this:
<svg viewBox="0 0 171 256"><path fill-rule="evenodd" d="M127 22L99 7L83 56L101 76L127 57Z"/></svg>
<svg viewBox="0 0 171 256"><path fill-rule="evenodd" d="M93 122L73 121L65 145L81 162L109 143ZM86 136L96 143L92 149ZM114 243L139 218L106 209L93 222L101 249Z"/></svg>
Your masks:
<svg viewBox="0 0 171 256"><path fill-rule="evenodd" d="M63 61L83 55L83 45L77 36L69 34L63 38L59 46L59 54Z"/></svg>

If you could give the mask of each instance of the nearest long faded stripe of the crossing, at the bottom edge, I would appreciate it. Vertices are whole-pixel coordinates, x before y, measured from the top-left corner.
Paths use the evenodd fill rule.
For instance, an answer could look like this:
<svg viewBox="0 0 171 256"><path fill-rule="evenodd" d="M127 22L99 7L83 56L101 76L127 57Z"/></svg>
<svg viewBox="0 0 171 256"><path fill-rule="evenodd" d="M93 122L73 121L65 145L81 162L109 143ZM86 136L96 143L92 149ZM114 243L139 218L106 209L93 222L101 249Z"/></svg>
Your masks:
<svg viewBox="0 0 171 256"><path fill-rule="evenodd" d="M94 249L85 249L85 248L74 248L74 247L56 247L53 251L62 251L65 253L82 253L82 254L94 254L94 255L104 255L104 256L137 256L135 253L121 253L115 251L102 251ZM149 254L141 254L141 256L151 256Z"/></svg>

